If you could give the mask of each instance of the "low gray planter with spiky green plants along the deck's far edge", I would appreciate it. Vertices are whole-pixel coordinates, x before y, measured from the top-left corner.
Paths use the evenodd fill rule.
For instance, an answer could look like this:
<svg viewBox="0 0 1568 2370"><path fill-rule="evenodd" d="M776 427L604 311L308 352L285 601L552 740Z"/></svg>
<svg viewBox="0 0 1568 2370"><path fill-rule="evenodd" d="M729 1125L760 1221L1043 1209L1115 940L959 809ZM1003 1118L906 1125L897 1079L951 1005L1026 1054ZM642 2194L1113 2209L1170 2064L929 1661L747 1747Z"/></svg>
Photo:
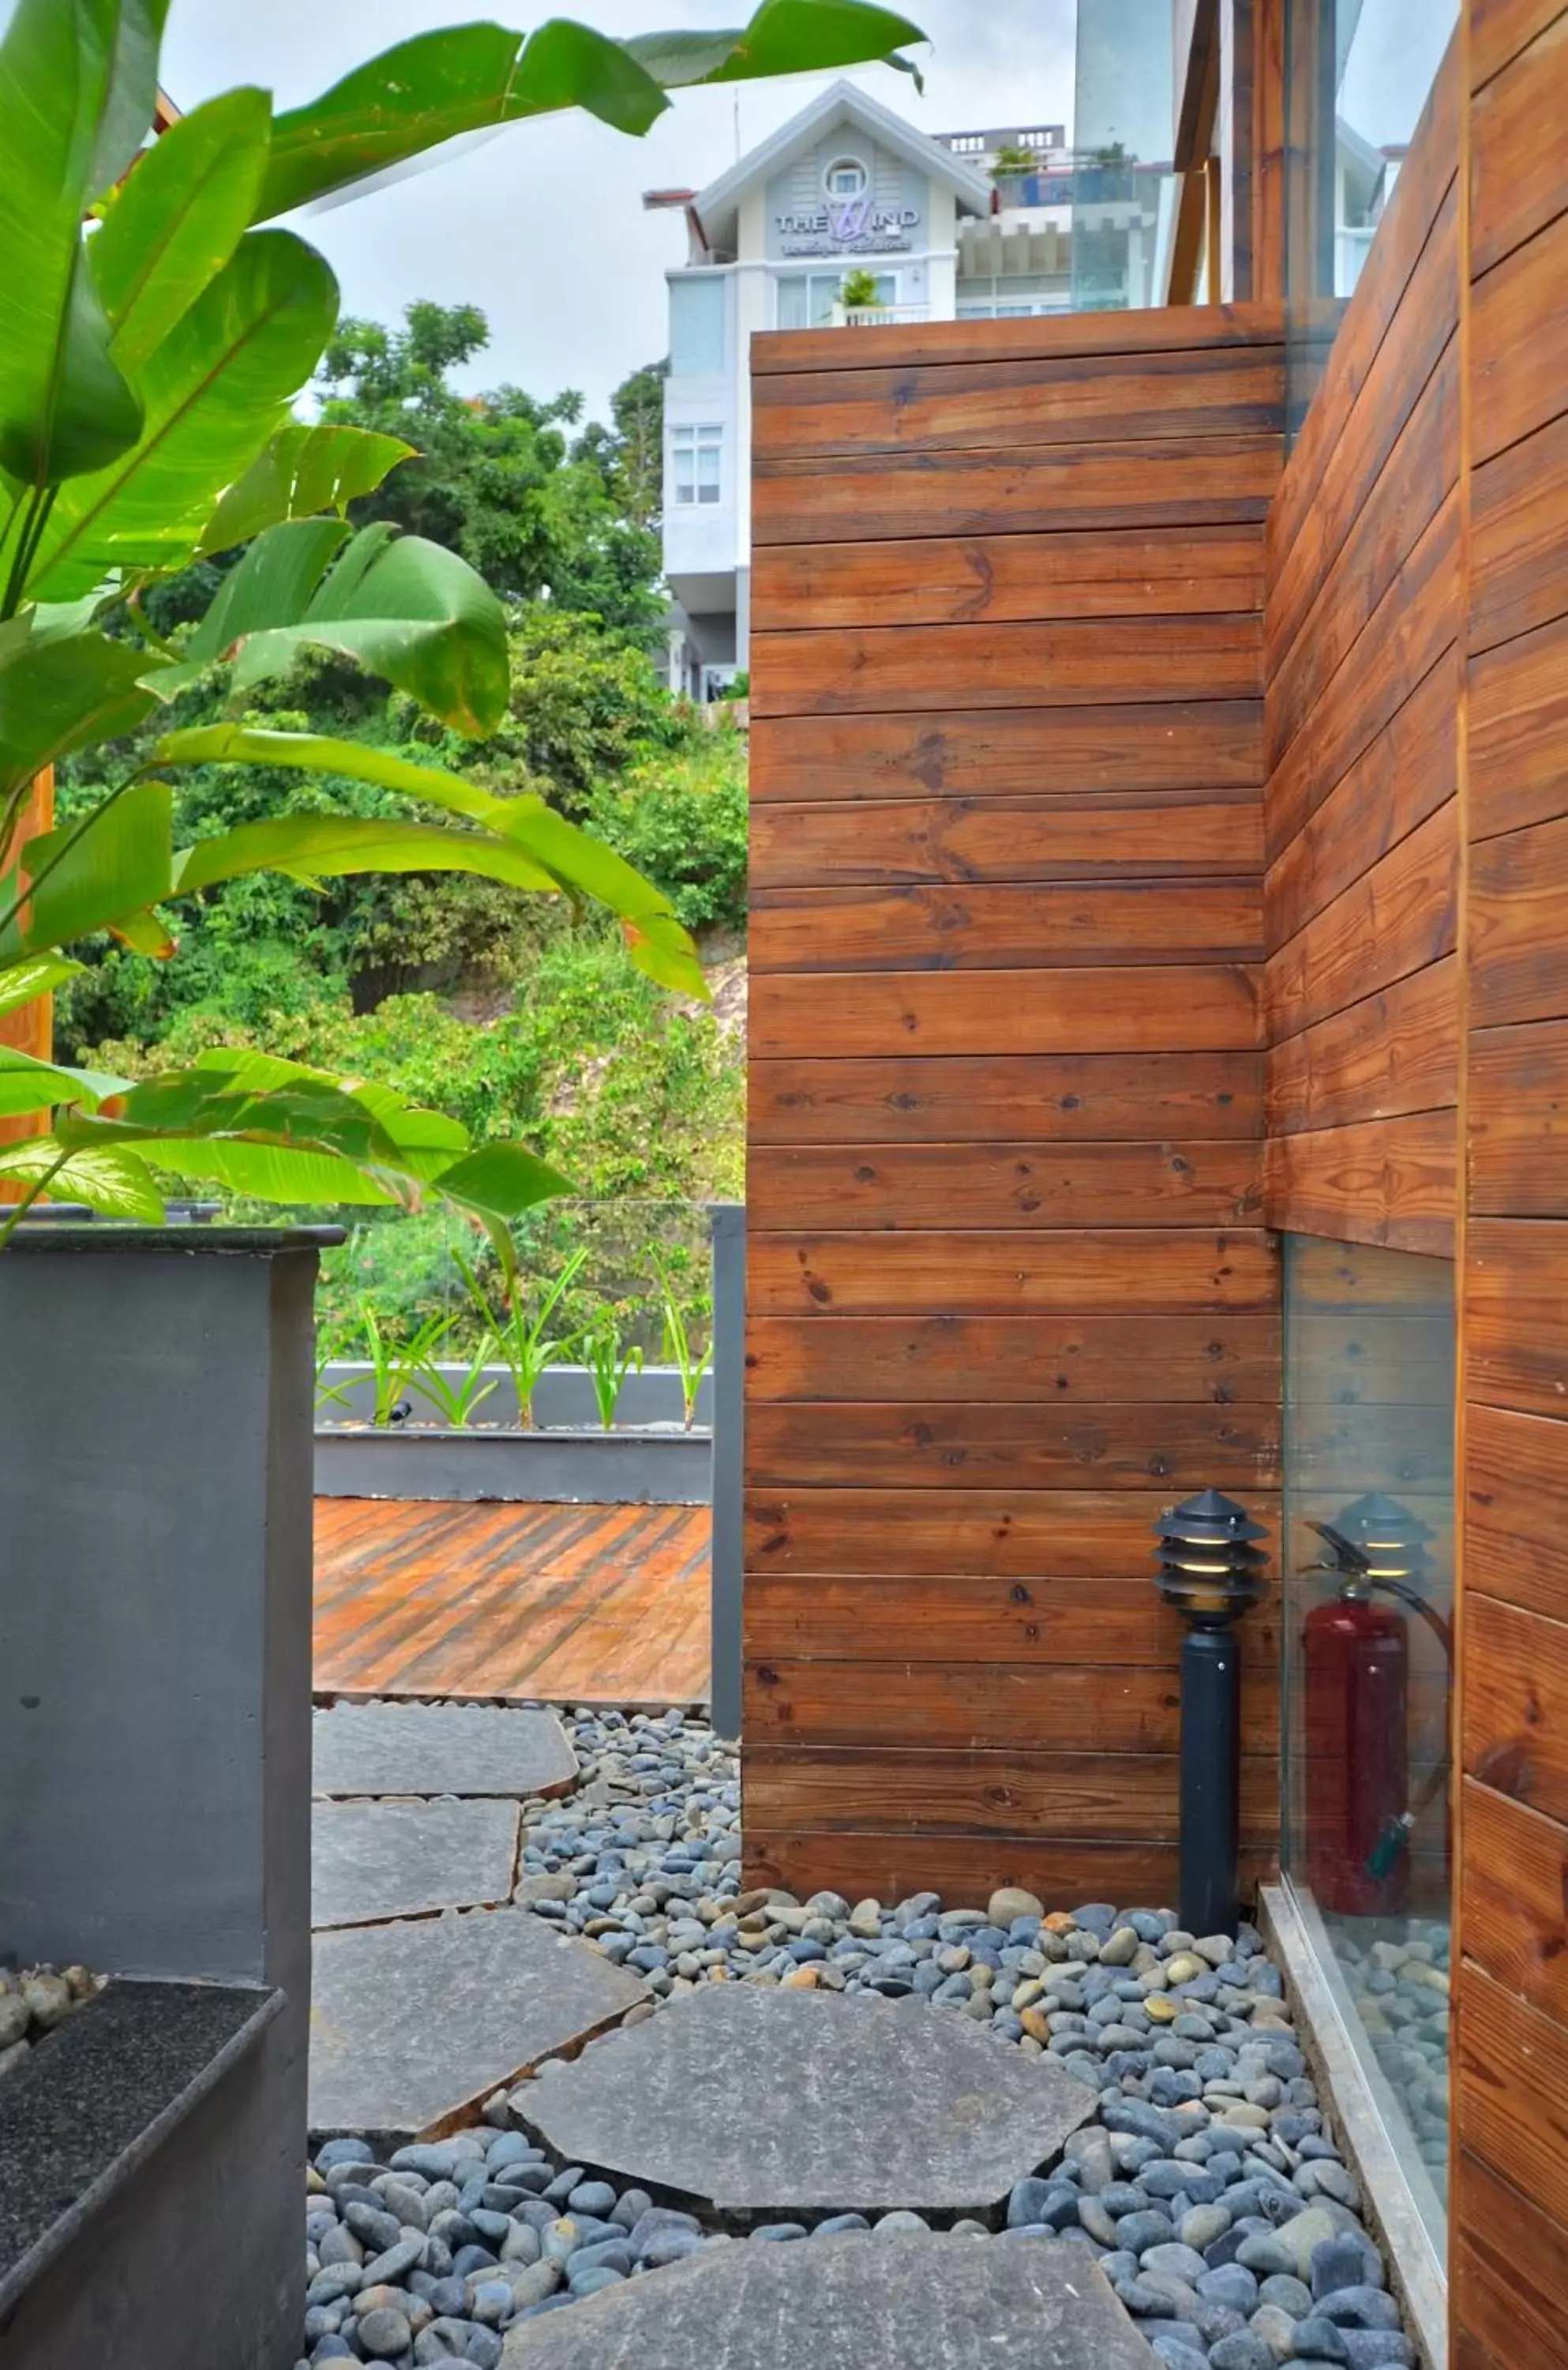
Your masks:
<svg viewBox="0 0 1568 2370"><path fill-rule="evenodd" d="M443 1367L452 1379L467 1370ZM703 1377L692 1431L682 1422L680 1375L649 1367L630 1375L613 1431L604 1431L585 1367L552 1367L535 1396L535 1427L516 1422L516 1391L505 1367L488 1367L495 1391L478 1422L450 1427L438 1408L407 1394L407 1417L386 1429L369 1422L365 1365L329 1365L327 1403L315 1431L317 1498L500 1498L533 1505L708 1505L713 1498L713 1382Z"/></svg>

